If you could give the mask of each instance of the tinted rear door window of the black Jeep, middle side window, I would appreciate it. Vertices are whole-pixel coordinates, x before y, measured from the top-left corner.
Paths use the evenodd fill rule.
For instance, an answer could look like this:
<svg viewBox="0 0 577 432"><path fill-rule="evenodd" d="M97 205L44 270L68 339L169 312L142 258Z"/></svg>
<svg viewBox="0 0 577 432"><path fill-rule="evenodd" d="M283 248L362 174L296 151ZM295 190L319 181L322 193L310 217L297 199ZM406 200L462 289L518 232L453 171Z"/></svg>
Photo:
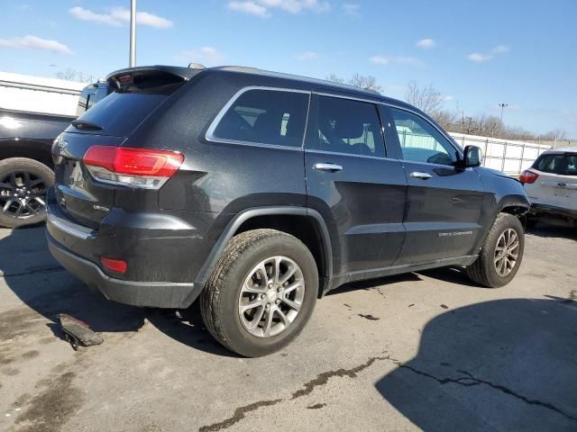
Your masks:
<svg viewBox="0 0 577 432"><path fill-rule="evenodd" d="M384 156L385 143L374 103L319 96L316 126L307 147L360 156Z"/></svg>

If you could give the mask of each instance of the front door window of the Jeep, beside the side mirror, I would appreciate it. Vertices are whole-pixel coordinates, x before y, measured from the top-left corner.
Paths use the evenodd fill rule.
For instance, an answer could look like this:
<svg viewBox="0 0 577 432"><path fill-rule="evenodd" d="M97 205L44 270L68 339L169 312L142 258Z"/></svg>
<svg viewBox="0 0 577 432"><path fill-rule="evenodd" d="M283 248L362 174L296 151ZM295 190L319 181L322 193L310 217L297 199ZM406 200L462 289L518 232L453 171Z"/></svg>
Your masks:
<svg viewBox="0 0 577 432"><path fill-rule="evenodd" d="M435 127L412 112L390 108L403 159L427 164L453 165L455 148Z"/></svg>

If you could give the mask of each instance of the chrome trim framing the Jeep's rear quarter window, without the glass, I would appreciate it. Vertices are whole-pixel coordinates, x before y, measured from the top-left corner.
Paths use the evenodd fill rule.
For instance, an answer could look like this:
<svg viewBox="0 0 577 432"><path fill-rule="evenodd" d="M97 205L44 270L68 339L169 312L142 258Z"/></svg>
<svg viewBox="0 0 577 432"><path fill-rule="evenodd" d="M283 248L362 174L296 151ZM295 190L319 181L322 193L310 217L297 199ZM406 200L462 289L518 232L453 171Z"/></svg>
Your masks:
<svg viewBox="0 0 577 432"><path fill-rule="evenodd" d="M243 141L241 139L227 139L227 138L218 138L215 137L215 130L218 127L218 123L223 120L224 114L228 112L231 106L234 105L236 100L241 97L246 92L250 92L252 90L265 90L270 92L286 92L286 93L300 93L300 94L308 94L308 102L307 102L307 112L305 113L305 129L303 130L303 139L300 143L299 147L290 147L290 146L281 146L279 144L270 144L266 142L252 142L252 141ZM251 146L251 147L264 147L264 148L277 148L283 150L303 150L303 145L305 142L305 136L307 135L307 121L308 121L308 111L310 110L310 94L311 92L308 90L299 90L297 88L286 88L286 87L270 87L264 85L248 85L246 87L241 88L238 92L236 92L227 103L224 104L224 107L216 114L215 120L210 123L210 126L206 130L205 139L209 142L222 142L224 144L240 144L242 146Z"/></svg>

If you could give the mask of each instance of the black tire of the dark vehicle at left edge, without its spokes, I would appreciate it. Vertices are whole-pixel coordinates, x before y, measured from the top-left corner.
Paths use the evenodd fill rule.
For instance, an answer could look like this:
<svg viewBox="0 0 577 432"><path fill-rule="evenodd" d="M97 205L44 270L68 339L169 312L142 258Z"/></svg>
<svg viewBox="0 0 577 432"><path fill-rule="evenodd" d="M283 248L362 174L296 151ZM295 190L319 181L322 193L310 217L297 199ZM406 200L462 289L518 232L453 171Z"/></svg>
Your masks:
<svg viewBox="0 0 577 432"><path fill-rule="evenodd" d="M11 199L8 193L13 193L14 185L10 184L12 188L7 186L3 188L2 184L8 185L4 180L12 173L17 175L17 182L20 182L20 179L23 178L23 173L28 173L28 178L32 178L31 184L36 183L37 180L41 180L41 183L35 184L31 191L43 197L43 202L46 202L46 192L52 184L54 184L54 173L52 170L37 160L26 157L11 157L0 160L0 227L20 228L42 222L46 217L46 209L45 206L41 206L38 201L32 202L30 209L28 207L24 208L24 210L21 211L21 216L17 216L17 211L14 211L14 208L17 208L16 206L21 205L19 202L13 201L13 203L9 205L9 208L5 210L6 204ZM32 194L32 196L34 195ZM25 196L23 198L25 198Z"/></svg>

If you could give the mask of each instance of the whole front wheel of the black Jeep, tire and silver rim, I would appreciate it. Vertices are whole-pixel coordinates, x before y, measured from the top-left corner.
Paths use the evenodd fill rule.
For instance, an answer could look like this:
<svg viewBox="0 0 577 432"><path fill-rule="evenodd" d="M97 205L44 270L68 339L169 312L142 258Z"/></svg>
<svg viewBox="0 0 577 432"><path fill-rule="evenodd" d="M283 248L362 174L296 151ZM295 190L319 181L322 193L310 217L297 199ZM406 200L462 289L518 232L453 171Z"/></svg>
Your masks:
<svg viewBox="0 0 577 432"><path fill-rule="evenodd" d="M467 267L467 275L473 282L490 288L506 285L517 275L524 249L521 222L512 214L499 213L479 257Z"/></svg>

